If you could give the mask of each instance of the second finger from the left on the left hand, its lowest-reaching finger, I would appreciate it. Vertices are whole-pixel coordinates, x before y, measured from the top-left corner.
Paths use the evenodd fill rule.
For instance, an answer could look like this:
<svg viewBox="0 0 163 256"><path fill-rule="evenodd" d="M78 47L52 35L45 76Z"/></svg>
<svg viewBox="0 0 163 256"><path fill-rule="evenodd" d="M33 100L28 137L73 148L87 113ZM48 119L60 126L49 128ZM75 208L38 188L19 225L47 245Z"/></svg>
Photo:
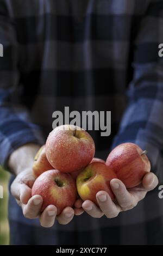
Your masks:
<svg viewBox="0 0 163 256"><path fill-rule="evenodd" d="M57 208L54 205L48 205L40 216L40 224L44 228L51 228L54 225Z"/></svg>

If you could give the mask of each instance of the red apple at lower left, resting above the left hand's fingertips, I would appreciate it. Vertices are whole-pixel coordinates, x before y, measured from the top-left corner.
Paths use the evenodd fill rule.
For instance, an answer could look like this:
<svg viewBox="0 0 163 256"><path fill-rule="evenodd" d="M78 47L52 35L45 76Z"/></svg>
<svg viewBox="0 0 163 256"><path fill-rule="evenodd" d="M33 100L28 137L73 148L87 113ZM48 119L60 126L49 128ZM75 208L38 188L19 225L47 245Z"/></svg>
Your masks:
<svg viewBox="0 0 163 256"><path fill-rule="evenodd" d="M77 198L76 182L70 174L47 170L34 182L32 196L36 194L43 199L41 211L48 205L55 205L59 215L65 207L74 205Z"/></svg>

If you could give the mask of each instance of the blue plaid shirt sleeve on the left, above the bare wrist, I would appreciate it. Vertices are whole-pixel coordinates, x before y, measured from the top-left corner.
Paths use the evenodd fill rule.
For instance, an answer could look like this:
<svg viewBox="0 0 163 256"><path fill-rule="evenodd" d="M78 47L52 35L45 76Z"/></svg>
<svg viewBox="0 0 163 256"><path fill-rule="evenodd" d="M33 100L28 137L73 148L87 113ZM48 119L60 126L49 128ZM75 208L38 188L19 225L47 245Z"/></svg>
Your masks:
<svg viewBox="0 0 163 256"><path fill-rule="evenodd" d="M0 164L7 167L12 151L29 142L42 144L43 139L40 128L30 121L26 107L18 99L21 89L19 46L3 1L0 4L0 43L3 45L3 57L0 57Z"/></svg>

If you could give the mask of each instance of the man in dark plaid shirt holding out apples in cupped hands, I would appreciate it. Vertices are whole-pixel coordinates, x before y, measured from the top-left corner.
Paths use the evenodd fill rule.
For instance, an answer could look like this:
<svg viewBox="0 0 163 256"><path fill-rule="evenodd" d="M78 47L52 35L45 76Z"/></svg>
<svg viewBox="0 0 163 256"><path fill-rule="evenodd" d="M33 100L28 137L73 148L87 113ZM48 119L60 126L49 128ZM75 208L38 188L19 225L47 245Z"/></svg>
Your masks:
<svg viewBox="0 0 163 256"><path fill-rule="evenodd" d="M156 0L1 1L1 163L16 175L11 244L162 244L162 202L153 190L155 174L162 181L162 10ZM65 106L111 111L111 136L91 133L97 156L134 142L148 151L155 174L129 191L114 179L117 204L99 191L99 208L78 200L55 221L55 206L40 214L42 198L31 197L32 164L52 113Z"/></svg>

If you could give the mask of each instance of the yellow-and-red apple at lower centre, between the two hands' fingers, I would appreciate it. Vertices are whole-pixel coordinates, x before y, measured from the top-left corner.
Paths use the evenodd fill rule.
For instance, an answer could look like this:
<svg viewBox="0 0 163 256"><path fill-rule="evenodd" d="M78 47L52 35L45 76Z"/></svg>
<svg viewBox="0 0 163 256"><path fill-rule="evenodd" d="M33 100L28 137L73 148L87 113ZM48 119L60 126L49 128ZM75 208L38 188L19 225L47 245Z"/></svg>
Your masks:
<svg viewBox="0 0 163 256"><path fill-rule="evenodd" d="M105 163L90 163L77 177L78 194L82 200L91 200L97 205L96 194L98 191L104 190L109 193L111 199L114 199L110 181L115 178L117 178L116 174Z"/></svg>

